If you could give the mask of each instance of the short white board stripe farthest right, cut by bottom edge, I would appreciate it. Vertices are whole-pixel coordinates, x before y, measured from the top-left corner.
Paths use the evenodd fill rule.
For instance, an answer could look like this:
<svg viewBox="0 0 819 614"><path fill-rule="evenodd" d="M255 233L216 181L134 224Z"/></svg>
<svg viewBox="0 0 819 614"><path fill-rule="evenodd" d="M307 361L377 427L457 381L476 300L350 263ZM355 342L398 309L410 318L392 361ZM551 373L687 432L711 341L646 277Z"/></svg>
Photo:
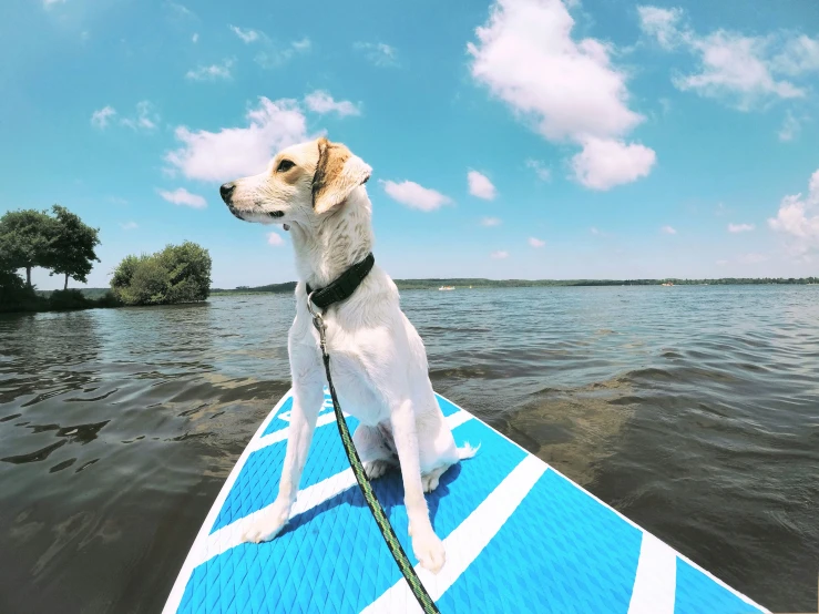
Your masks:
<svg viewBox="0 0 819 614"><path fill-rule="evenodd" d="M676 585L677 553L644 531L628 614L674 614Z"/></svg>

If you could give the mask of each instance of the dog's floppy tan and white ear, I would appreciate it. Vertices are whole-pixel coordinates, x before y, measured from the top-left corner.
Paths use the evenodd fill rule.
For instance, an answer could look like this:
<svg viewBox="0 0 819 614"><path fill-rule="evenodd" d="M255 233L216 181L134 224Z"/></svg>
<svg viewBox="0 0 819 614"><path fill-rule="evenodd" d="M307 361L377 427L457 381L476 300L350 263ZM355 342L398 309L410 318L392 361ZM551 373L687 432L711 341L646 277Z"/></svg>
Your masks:
<svg viewBox="0 0 819 614"><path fill-rule="evenodd" d="M344 203L359 185L367 183L372 168L340 143L318 140L318 163L313 177L313 207L325 213Z"/></svg>

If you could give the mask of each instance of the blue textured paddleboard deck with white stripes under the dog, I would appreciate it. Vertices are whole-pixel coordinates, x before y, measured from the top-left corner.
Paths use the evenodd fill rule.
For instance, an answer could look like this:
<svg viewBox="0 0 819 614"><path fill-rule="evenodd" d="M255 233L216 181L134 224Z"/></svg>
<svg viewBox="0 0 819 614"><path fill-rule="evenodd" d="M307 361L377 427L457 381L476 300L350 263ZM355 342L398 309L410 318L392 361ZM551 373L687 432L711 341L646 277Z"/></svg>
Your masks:
<svg viewBox="0 0 819 614"><path fill-rule="evenodd" d="M398 470L372 487L442 613L746 614L768 612L437 396L458 446L478 454L427 495L447 563L418 564ZM349 468L325 391L290 520L270 542L243 543L278 493L291 391L248 443L171 591L175 613L421 612ZM347 416L350 431L358 421Z"/></svg>

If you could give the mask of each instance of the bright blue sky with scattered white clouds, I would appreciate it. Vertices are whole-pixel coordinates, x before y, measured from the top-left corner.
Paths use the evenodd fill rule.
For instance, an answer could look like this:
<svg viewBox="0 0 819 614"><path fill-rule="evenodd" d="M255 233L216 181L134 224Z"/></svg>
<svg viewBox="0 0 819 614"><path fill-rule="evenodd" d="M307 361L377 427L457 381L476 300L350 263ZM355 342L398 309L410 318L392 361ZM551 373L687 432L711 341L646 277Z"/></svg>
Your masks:
<svg viewBox="0 0 819 614"><path fill-rule="evenodd" d="M393 278L819 274L812 0L2 3L0 214L100 228L91 287L186 239L215 287L296 279L218 186L321 134Z"/></svg>

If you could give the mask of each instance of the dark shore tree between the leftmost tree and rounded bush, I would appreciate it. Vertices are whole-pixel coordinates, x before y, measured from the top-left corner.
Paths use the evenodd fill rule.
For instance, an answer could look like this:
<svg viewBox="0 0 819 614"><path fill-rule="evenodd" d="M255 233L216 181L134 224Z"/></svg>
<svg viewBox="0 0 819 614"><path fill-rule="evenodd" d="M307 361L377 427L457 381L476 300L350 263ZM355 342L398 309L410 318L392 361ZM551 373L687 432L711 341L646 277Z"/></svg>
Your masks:
<svg viewBox="0 0 819 614"><path fill-rule="evenodd" d="M84 284L93 260L100 262L94 253L94 247L100 245L100 231L83 224L79 215L65 207L54 205L52 211L57 219L47 266L51 275L65 275L63 289L68 289L69 277Z"/></svg>

